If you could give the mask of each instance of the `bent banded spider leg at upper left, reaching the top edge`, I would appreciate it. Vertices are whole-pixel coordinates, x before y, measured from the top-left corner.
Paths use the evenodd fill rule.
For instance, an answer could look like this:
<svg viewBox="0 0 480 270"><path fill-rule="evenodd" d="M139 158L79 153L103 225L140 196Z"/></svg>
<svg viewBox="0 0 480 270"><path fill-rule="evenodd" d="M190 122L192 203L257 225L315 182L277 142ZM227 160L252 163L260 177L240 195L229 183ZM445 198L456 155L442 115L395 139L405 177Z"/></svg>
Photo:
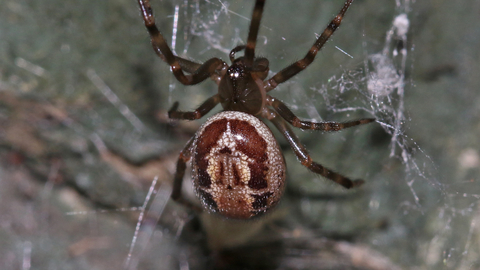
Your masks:
<svg viewBox="0 0 480 270"><path fill-rule="evenodd" d="M213 76L212 79L214 81L217 81L218 74L226 69L227 65L225 62L218 58L212 58L200 65L190 60L175 56L170 47L168 47L162 33L160 33L155 25L155 18L150 6L150 1L138 0L138 4L140 5L145 27L150 34L155 53L170 65L172 73L179 82L184 85L193 85L200 83L211 76ZM190 72L191 75L185 75L182 68L185 68L185 70Z"/></svg>

